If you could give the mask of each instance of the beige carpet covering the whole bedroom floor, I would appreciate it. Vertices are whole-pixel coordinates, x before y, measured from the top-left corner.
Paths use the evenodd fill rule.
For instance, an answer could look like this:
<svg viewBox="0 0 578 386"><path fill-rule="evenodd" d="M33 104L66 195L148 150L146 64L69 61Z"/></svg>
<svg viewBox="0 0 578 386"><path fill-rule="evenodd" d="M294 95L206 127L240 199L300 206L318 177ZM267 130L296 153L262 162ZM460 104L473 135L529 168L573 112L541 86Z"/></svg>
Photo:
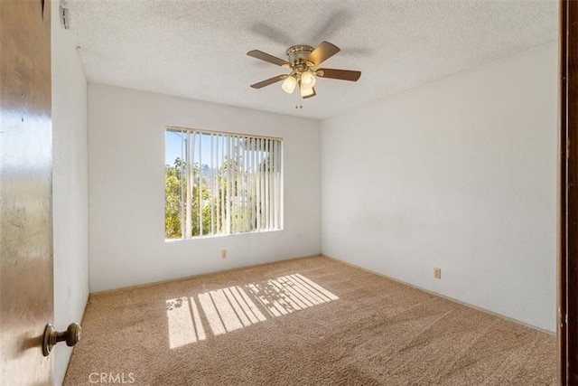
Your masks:
<svg viewBox="0 0 578 386"><path fill-rule="evenodd" d="M322 257L93 296L82 328L68 385L555 384L554 336Z"/></svg>

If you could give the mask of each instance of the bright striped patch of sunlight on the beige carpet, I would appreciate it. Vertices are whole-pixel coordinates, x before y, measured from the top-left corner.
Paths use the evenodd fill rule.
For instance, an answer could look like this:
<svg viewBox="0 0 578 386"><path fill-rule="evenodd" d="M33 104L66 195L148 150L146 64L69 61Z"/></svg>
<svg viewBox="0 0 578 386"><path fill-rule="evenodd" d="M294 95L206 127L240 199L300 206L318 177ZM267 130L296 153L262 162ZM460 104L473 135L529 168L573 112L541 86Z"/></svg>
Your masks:
<svg viewBox="0 0 578 386"><path fill-rule="evenodd" d="M177 297L166 301L170 348L205 340L203 321L217 336L265 322L264 312L277 317L339 297L311 279L293 274L204 292L197 299L202 313L195 297Z"/></svg>

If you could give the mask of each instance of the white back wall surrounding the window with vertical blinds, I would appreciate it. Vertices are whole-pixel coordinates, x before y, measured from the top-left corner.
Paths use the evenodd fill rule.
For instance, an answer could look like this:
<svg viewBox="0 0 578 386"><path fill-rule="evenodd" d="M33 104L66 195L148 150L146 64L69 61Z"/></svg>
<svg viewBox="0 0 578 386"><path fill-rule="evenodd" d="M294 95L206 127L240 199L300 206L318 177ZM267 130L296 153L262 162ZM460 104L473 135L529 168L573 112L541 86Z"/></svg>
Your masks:
<svg viewBox="0 0 578 386"><path fill-rule="evenodd" d="M165 242L167 125L283 137L284 231ZM319 149L316 120L89 84L90 291L318 254Z"/></svg>

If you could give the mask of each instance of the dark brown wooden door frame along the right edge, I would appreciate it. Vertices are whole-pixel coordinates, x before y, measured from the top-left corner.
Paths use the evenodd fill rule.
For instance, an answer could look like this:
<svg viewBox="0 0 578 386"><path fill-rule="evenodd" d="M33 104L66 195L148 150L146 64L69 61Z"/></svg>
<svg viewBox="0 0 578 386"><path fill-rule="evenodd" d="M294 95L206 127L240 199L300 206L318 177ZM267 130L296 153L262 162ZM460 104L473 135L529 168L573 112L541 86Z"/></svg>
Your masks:
<svg viewBox="0 0 578 386"><path fill-rule="evenodd" d="M578 2L560 2L560 373L578 385Z"/></svg>

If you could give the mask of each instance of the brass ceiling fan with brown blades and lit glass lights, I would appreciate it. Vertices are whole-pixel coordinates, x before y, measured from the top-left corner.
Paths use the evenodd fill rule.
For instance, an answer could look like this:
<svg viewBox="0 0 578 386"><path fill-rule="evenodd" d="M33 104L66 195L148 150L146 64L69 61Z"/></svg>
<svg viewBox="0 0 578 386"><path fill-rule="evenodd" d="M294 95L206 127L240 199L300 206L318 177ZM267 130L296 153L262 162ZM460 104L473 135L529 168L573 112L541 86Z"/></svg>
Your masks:
<svg viewBox="0 0 578 386"><path fill-rule="evenodd" d="M288 74L277 75L268 80L262 80L258 83L252 84L253 89L261 89L270 84L284 80L281 88L292 94L297 85L301 92L303 99L312 98L317 93L315 92L316 77L331 78L337 80L357 81L361 76L360 71L350 70L336 70L336 69L317 69L317 67L331 56L340 52L339 47L331 42L322 42L317 47L313 48L309 45L299 44L293 45L287 49L285 54L287 60L279 59L273 55L259 50L247 52L247 55L260 59L261 61L268 61L286 69L291 69Z"/></svg>

